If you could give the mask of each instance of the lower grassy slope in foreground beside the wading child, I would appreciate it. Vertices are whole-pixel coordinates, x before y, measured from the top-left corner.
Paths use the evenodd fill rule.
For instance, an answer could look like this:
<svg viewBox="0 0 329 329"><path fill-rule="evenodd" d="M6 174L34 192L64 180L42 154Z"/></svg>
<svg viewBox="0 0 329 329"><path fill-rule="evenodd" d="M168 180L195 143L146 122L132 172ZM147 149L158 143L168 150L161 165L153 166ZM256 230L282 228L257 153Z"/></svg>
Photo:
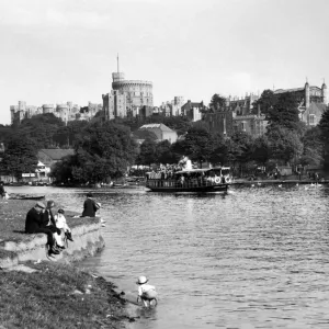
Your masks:
<svg viewBox="0 0 329 329"><path fill-rule="evenodd" d="M125 328L134 321L114 285L72 265L26 263L34 273L1 271L0 324L7 329Z"/></svg>

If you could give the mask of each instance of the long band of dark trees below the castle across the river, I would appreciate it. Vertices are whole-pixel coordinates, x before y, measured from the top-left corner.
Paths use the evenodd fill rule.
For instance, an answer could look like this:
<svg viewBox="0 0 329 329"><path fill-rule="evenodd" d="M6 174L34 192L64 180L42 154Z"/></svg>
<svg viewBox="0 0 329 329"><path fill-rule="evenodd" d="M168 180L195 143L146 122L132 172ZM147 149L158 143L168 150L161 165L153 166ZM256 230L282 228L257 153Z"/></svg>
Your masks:
<svg viewBox="0 0 329 329"><path fill-rule="evenodd" d="M211 104L218 110L225 98L215 94ZM206 122L190 122L185 117L161 115L127 117L103 122L101 115L92 121L73 121L67 125L54 114L41 114L23 120L20 125L0 126L0 141L4 143L0 170L18 178L33 172L37 151L42 148L73 148L75 155L53 168L55 180L71 183L101 182L122 177L132 164L177 163L182 156L202 166L204 162L230 166L236 173L250 172L256 167L269 170L276 164L329 164L329 112L324 112L316 127L307 128L299 121L298 103L293 94L263 91L253 104L268 120L263 136L252 137L235 132L224 138L211 132ZM148 123L163 123L179 133L174 144L157 143L144 136L141 145L132 132Z"/></svg>

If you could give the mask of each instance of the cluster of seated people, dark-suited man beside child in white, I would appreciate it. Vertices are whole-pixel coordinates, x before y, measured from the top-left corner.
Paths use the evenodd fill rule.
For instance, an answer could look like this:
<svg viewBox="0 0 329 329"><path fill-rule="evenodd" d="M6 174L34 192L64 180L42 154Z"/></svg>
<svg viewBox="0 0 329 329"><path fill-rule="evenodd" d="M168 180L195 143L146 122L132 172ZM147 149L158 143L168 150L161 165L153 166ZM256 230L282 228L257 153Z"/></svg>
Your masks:
<svg viewBox="0 0 329 329"><path fill-rule="evenodd" d="M35 206L27 212L25 220L25 232L43 232L47 235L48 256L58 254L65 249L65 237L73 241L71 230L64 216L65 211L59 208L54 216L52 211L54 207L55 202L52 200L47 202L46 206L42 202L37 202Z"/></svg>

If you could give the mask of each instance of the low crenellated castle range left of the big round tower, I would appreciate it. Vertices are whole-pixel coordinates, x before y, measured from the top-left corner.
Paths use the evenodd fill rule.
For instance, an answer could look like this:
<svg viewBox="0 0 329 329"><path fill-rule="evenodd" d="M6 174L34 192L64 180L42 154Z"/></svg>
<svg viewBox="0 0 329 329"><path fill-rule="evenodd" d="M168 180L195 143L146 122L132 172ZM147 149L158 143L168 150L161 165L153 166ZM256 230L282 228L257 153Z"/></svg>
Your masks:
<svg viewBox="0 0 329 329"><path fill-rule="evenodd" d="M61 118L65 123L75 120L92 118L99 111L102 110L102 104L88 102L88 106L81 107L72 102L60 104L43 104L42 106L26 105L26 102L19 101L18 105L11 105L11 124L19 124L24 118L31 118L37 114L53 113L56 117Z"/></svg>

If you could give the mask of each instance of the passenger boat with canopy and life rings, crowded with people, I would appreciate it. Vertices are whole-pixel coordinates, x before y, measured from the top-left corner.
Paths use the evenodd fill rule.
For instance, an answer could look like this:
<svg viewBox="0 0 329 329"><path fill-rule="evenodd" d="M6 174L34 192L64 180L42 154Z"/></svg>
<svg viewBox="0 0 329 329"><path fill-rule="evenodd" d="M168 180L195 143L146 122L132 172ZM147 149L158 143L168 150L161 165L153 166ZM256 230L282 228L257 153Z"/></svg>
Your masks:
<svg viewBox="0 0 329 329"><path fill-rule="evenodd" d="M229 167L181 170L172 174L148 172L146 188L154 192L220 192L231 184Z"/></svg>

